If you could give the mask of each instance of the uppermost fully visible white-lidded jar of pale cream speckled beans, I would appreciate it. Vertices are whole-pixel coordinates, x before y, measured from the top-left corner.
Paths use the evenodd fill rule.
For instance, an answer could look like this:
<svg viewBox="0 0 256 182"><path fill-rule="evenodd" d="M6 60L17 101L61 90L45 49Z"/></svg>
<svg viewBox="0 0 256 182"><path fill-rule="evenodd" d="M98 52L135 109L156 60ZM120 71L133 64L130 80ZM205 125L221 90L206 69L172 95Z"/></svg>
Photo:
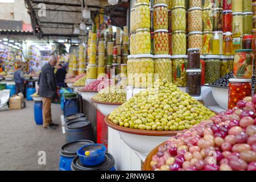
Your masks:
<svg viewBox="0 0 256 182"><path fill-rule="evenodd" d="M202 8L192 7L188 10L188 31L202 31Z"/></svg>

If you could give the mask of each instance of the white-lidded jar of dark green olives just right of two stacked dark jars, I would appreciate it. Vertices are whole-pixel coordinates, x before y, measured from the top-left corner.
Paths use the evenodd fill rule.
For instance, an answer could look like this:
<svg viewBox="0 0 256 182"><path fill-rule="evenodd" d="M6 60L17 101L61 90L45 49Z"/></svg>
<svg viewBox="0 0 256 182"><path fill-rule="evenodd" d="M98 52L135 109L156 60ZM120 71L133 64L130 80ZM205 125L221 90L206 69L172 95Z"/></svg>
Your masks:
<svg viewBox="0 0 256 182"><path fill-rule="evenodd" d="M210 84L220 78L220 56L205 56L205 83Z"/></svg>

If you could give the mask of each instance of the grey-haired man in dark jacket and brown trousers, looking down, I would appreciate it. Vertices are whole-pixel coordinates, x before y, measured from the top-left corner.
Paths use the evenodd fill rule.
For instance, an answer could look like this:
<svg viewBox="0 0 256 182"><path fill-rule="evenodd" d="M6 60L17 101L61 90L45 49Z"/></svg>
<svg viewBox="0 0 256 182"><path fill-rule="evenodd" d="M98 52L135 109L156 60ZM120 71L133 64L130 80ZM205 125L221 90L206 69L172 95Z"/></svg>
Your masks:
<svg viewBox="0 0 256 182"><path fill-rule="evenodd" d="M43 97L43 127L53 129L58 126L52 123L51 102L56 97L57 83L54 74L54 67L57 64L57 58L51 56L49 63L45 64L39 77L39 96Z"/></svg>

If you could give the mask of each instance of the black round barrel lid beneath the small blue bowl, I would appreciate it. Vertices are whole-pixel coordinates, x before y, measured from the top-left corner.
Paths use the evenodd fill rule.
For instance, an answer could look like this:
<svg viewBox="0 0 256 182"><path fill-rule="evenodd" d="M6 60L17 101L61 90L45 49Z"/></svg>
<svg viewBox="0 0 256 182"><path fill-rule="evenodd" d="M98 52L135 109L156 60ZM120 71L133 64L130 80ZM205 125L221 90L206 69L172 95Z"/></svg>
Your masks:
<svg viewBox="0 0 256 182"><path fill-rule="evenodd" d="M101 164L96 166L85 166L79 160L79 156L76 156L72 161L71 168L73 171L109 171L115 166L115 160L111 154L106 152L105 159Z"/></svg>

